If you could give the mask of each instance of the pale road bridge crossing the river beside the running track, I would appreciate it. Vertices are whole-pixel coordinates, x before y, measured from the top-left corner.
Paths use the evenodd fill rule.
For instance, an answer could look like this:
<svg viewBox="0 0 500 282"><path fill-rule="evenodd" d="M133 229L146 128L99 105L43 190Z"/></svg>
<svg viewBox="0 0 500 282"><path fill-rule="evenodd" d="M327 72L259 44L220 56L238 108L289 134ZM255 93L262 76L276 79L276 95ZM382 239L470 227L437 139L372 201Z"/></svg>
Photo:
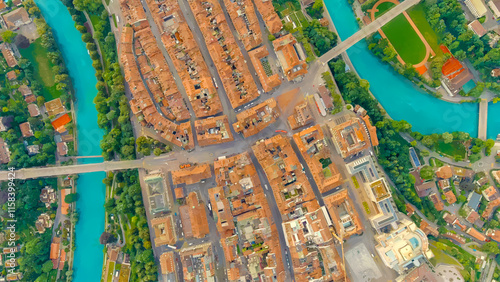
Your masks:
<svg viewBox="0 0 500 282"><path fill-rule="evenodd" d="M323 54L323 56L321 56L318 59L318 61L323 63L323 64L328 63L330 60L332 60L333 58L342 54L347 49L352 47L354 44L358 43L360 40L362 40L365 37L369 36L370 34L376 32L381 27L383 27L386 23L390 22L392 19L394 19L395 17L397 17L398 15L403 13L404 11L408 10L410 7L417 4L418 2L420 2L420 0L405 0L402 3L396 5L396 7L390 9L388 12L386 12L382 16L378 17L376 20L374 20L373 22L371 22L367 26L363 27L361 30L359 30L355 34L351 35L351 37L340 42L333 49L331 49L330 51Z"/></svg>

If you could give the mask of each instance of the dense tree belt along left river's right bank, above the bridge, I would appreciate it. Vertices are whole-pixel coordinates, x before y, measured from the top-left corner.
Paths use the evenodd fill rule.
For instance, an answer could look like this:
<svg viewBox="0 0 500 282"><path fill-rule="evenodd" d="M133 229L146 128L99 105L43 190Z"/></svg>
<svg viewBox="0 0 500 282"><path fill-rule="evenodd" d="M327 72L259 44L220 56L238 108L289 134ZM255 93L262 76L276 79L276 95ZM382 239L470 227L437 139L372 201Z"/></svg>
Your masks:
<svg viewBox="0 0 500 282"><path fill-rule="evenodd" d="M108 13L101 1L63 0L73 16L76 28L82 33L82 40L87 43L87 49L96 69L97 95L94 99L97 109L97 122L104 130L101 140L102 155L105 160L117 156L121 159L135 159L135 139L130 122L128 99L125 96L124 80L116 54L116 42ZM74 4L74 6L73 6ZM84 27L86 22L83 11L99 15L100 20L94 24L94 38ZM96 43L97 42L97 45ZM99 60L97 48L100 48L104 67Z"/></svg>

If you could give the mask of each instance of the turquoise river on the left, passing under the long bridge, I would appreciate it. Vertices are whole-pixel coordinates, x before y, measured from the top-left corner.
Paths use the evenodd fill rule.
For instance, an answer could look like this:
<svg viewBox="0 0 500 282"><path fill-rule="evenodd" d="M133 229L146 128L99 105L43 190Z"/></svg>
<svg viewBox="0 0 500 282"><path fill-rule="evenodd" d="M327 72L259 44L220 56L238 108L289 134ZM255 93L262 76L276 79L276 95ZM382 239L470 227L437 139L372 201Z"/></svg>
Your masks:
<svg viewBox="0 0 500 282"><path fill-rule="evenodd" d="M101 155L99 142L103 132L97 126L97 111L93 102L97 94L97 79L80 32L76 30L71 15L60 0L35 2L52 27L76 91L78 155ZM104 231L104 177L104 172L86 173L77 180L80 219L76 225L77 248L73 263L75 282L101 279L103 246L99 244L99 236Z"/></svg>

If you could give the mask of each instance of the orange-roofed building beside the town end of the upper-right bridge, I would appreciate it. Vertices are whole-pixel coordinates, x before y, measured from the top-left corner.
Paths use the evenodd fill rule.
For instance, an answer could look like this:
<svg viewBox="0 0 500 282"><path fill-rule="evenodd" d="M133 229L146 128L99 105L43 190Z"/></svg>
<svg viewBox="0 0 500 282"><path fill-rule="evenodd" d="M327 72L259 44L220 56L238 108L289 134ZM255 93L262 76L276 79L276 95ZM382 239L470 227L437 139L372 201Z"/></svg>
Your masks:
<svg viewBox="0 0 500 282"><path fill-rule="evenodd" d="M273 46L288 81L307 73L306 55L291 33L274 40Z"/></svg>

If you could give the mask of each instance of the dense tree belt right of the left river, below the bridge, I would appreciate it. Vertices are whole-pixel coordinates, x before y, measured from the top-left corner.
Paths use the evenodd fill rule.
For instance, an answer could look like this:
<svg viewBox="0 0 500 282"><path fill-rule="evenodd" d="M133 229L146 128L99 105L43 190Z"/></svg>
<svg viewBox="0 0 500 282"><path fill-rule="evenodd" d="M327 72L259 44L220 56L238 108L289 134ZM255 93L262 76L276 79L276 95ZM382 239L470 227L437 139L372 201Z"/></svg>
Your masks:
<svg viewBox="0 0 500 282"><path fill-rule="evenodd" d="M118 183L114 190L115 197L108 199L104 205L108 214L122 216L133 214L130 218L131 229L127 230L127 244L122 251L130 255L131 281L157 281L158 273L149 237L148 222L139 185L137 170L110 173L103 180L108 187L113 182ZM115 200L117 199L117 200ZM121 232L121 231L120 231Z"/></svg>

